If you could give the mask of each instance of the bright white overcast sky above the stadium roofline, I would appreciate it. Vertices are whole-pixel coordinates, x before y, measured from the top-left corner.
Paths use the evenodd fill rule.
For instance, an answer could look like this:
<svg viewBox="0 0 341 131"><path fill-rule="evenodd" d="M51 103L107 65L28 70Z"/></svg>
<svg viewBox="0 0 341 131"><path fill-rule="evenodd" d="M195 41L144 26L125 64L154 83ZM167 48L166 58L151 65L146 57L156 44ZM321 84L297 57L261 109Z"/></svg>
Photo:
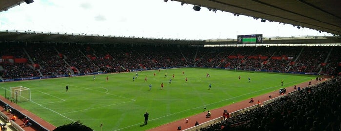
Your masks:
<svg viewBox="0 0 341 131"><path fill-rule="evenodd" d="M248 34L331 35L219 10L214 13L206 7L192 8L171 0L34 0L0 12L0 30L187 40L235 39Z"/></svg>

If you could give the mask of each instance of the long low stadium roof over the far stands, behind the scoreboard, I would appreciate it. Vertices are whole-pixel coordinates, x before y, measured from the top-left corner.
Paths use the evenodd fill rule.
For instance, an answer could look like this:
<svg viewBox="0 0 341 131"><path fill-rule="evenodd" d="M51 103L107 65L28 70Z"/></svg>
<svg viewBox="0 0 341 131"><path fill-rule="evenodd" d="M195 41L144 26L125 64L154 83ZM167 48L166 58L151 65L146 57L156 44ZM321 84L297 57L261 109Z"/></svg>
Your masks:
<svg viewBox="0 0 341 131"><path fill-rule="evenodd" d="M183 45L208 45L208 44L237 44L236 39L219 40L185 40L162 39L144 37L104 36L93 34L67 34L35 31L0 31L2 42L44 42L44 43L83 43L83 44L183 44ZM330 44L341 43L339 37L334 36L306 36L306 37L275 37L264 38L262 44Z"/></svg>

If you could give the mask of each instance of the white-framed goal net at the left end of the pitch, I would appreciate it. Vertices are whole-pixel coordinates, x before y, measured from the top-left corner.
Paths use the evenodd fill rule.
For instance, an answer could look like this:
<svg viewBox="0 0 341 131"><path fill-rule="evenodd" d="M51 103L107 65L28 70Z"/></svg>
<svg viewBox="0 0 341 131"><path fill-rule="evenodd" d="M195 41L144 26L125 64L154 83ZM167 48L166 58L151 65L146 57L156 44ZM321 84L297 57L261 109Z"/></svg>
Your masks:
<svg viewBox="0 0 341 131"><path fill-rule="evenodd" d="M11 98L16 102L31 101L31 89L23 86L9 88L11 89Z"/></svg>

